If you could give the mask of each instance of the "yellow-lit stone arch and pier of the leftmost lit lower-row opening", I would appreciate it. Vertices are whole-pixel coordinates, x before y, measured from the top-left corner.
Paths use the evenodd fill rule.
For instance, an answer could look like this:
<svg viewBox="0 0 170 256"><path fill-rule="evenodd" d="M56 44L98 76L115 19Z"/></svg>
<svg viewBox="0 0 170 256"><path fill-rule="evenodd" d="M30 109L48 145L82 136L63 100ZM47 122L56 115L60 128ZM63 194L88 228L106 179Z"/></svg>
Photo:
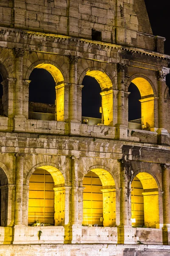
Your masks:
<svg viewBox="0 0 170 256"><path fill-rule="evenodd" d="M65 223L65 179L59 169L54 167L54 164L44 164L37 164L30 170L26 177L26 183L28 184L31 175L35 171L42 172L42 170L45 170L52 176L54 180L54 221L55 226L62 226Z"/></svg>

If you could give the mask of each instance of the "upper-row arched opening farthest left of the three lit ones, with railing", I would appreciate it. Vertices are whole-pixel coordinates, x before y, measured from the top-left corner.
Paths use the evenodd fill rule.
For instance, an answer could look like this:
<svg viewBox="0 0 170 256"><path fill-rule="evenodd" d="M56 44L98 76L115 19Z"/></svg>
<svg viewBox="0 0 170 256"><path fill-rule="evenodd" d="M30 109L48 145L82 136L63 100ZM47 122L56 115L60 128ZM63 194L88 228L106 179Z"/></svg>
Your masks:
<svg viewBox="0 0 170 256"><path fill-rule="evenodd" d="M63 120L64 94L62 73L51 64L40 64L32 70L29 84L28 118Z"/></svg>

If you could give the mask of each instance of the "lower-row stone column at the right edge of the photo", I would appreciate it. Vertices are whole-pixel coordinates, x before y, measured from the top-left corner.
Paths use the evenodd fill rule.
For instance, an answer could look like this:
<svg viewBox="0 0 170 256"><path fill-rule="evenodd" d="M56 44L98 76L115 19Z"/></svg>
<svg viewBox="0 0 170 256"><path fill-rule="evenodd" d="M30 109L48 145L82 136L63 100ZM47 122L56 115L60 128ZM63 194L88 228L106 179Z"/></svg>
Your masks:
<svg viewBox="0 0 170 256"><path fill-rule="evenodd" d="M170 244L170 164L162 164L163 244Z"/></svg>

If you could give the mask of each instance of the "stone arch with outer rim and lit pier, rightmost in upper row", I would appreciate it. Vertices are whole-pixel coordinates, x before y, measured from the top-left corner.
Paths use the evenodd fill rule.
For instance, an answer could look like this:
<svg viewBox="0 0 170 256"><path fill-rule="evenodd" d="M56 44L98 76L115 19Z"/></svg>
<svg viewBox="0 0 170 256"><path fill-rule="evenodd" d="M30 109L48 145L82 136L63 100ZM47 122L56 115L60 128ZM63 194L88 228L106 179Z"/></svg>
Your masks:
<svg viewBox="0 0 170 256"><path fill-rule="evenodd" d="M126 83L126 91L128 91L128 87L130 83L134 83L136 87L138 87L139 92L141 94L141 116L143 125L146 126L147 129L155 127L155 116L154 116L154 108L155 108L155 98L156 98L156 89L152 83L152 81L142 74L135 74L131 76Z"/></svg>

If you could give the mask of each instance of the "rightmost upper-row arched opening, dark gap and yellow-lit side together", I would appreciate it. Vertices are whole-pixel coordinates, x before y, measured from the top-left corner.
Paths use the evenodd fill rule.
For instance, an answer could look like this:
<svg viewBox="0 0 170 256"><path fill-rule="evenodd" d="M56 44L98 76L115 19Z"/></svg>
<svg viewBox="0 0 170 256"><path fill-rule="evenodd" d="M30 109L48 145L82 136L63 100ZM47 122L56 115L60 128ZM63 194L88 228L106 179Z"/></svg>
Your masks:
<svg viewBox="0 0 170 256"><path fill-rule="evenodd" d="M145 78L137 77L131 81L128 91L131 94L128 99L129 128L144 130L154 128L155 97L151 84Z"/></svg>

